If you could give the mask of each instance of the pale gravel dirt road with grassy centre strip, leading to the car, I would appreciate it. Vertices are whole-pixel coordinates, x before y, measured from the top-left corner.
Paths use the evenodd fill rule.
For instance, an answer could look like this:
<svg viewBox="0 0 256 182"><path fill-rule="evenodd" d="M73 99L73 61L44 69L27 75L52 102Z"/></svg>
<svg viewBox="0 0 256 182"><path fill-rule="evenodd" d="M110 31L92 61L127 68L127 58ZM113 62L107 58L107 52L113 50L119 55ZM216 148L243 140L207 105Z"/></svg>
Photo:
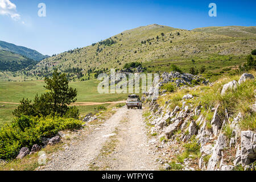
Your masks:
<svg viewBox="0 0 256 182"><path fill-rule="evenodd" d="M43 170L157 170L142 110L124 107L79 142L57 151Z"/></svg>

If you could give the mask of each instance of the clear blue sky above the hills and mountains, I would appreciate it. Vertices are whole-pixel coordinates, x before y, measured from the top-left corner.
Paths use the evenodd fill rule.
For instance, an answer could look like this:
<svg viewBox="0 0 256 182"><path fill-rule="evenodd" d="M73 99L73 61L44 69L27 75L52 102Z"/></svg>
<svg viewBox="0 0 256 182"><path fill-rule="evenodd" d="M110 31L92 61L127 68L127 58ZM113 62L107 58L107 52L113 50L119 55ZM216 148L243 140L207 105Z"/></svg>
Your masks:
<svg viewBox="0 0 256 182"><path fill-rule="evenodd" d="M212 2L217 17L208 15ZM9 5L7 11L3 3ZM46 17L38 16L39 3L46 4ZM0 40L52 55L154 23L187 30L256 26L255 7L255 0L0 0Z"/></svg>

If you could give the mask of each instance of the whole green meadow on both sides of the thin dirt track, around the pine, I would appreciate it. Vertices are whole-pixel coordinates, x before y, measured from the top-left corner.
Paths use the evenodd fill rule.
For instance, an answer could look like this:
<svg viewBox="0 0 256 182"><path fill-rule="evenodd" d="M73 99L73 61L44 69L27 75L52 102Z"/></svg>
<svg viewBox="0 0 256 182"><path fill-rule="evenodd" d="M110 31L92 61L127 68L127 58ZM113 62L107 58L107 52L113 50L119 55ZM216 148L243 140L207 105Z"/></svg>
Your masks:
<svg viewBox="0 0 256 182"><path fill-rule="evenodd" d="M100 94L97 91L99 81L70 82L69 86L77 89L77 102L113 102L126 100L128 94ZM44 81L0 82L0 127L9 123L13 111L22 98L33 100L36 94L47 92ZM6 103L9 102L9 103ZM11 103L10 103L11 102ZM109 104L104 104L105 107ZM81 115L94 112L93 106L78 106Z"/></svg>

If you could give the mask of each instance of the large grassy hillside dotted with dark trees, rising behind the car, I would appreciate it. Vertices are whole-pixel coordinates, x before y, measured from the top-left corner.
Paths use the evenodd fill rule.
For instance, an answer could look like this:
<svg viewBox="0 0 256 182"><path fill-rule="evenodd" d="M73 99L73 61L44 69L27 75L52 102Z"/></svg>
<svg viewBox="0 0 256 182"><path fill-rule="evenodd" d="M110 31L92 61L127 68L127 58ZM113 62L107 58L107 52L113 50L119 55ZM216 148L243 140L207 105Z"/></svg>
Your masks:
<svg viewBox="0 0 256 182"><path fill-rule="evenodd" d="M237 65L243 63L243 56L249 54L256 46L256 36L253 34L256 28L243 27L243 30L249 32L250 39L151 24L124 31L92 46L44 59L30 74L45 76L49 75L53 68L59 68L77 77L77 73L72 71L73 68L78 68L80 75L85 75L88 69L120 69L125 63L132 61L149 64L151 61L161 63L163 60L189 63L192 59L203 58L207 62L210 57L219 59L221 56L238 57L235 63L229 64ZM231 30L229 32L233 34ZM208 63L207 66L211 64Z"/></svg>

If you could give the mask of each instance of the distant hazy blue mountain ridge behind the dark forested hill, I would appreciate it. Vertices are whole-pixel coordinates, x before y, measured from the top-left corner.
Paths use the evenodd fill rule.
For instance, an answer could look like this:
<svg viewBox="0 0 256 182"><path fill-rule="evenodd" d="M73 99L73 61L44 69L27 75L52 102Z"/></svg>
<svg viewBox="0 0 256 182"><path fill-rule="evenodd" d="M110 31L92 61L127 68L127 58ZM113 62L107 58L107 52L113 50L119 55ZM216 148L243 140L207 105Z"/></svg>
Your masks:
<svg viewBox="0 0 256 182"><path fill-rule="evenodd" d="M0 50L17 53L19 55L27 57L28 59L33 59L36 61L40 61L48 57L48 56L42 55L38 51L29 49L26 47L22 47L22 46L16 46L15 44L3 42L3 41L0 41Z"/></svg>

